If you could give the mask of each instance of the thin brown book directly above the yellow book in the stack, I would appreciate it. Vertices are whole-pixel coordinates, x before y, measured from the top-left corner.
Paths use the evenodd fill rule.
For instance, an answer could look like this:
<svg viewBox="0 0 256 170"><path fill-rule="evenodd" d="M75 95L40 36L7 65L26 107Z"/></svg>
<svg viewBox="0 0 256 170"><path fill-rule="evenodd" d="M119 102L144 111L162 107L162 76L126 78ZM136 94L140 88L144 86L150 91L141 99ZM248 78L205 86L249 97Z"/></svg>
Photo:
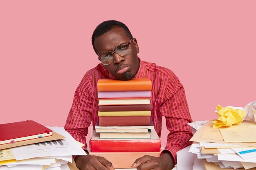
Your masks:
<svg viewBox="0 0 256 170"><path fill-rule="evenodd" d="M100 112L110 111L151 111L151 105L110 105L110 106L99 106Z"/></svg>

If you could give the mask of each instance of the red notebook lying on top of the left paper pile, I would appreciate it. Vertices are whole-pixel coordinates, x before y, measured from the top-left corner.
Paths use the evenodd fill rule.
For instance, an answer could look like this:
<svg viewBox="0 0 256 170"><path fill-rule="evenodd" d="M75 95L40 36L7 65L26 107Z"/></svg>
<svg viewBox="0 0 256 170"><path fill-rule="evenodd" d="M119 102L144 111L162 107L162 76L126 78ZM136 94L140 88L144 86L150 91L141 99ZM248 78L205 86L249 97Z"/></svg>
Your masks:
<svg viewBox="0 0 256 170"><path fill-rule="evenodd" d="M32 120L0 124L0 144L52 136L52 130Z"/></svg>

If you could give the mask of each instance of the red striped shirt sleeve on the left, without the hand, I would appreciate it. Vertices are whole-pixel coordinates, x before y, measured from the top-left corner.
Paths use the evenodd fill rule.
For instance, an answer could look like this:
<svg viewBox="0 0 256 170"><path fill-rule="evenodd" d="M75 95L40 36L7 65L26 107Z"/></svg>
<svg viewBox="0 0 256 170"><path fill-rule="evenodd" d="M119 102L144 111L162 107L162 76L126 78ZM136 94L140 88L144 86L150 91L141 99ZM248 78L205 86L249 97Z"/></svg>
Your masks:
<svg viewBox="0 0 256 170"><path fill-rule="evenodd" d="M85 146L82 148L86 150L86 135L88 134L88 127L92 121L92 85L88 75L85 75L81 83L76 88L74 100L70 112L67 116L65 130L72 135L72 137Z"/></svg>

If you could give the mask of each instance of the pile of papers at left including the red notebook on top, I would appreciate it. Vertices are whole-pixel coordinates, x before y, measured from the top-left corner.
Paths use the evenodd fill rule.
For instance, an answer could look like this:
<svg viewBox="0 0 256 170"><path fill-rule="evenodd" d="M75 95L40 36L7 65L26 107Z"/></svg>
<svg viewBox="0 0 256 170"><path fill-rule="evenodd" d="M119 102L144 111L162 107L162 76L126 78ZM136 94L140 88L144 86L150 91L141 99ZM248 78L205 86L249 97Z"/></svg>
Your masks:
<svg viewBox="0 0 256 170"><path fill-rule="evenodd" d="M76 170L72 155L86 155L64 128L27 120L0 129L0 170Z"/></svg>

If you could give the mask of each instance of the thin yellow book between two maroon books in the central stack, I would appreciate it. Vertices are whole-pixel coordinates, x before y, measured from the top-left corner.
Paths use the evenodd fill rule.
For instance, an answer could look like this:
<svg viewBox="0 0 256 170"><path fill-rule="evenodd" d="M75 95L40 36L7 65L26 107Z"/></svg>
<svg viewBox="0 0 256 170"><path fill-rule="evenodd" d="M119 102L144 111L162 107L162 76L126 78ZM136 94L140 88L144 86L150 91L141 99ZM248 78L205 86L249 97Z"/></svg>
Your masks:
<svg viewBox="0 0 256 170"><path fill-rule="evenodd" d="M98 112L99 116L151 116L151 111Z"/></svg>

